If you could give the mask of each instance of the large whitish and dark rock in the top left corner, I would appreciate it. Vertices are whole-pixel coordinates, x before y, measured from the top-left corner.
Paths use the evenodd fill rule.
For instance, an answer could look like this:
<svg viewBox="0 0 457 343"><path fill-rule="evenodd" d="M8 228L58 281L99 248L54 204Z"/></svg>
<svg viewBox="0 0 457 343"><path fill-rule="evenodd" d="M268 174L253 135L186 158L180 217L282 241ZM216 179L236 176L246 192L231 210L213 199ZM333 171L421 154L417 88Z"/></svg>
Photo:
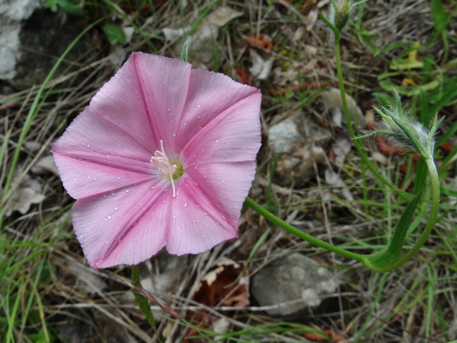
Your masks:
<svg viewBox="0 0 457 343"><path fill-rule="evenodd" d="M61 12L52 13L42 0L0 0L0 79L17 88L41 84L81 32L78 20ZM91 48L89 38L84 37L66 61L78 60ZM62 64L57 75L68 67Z"/></svg>

